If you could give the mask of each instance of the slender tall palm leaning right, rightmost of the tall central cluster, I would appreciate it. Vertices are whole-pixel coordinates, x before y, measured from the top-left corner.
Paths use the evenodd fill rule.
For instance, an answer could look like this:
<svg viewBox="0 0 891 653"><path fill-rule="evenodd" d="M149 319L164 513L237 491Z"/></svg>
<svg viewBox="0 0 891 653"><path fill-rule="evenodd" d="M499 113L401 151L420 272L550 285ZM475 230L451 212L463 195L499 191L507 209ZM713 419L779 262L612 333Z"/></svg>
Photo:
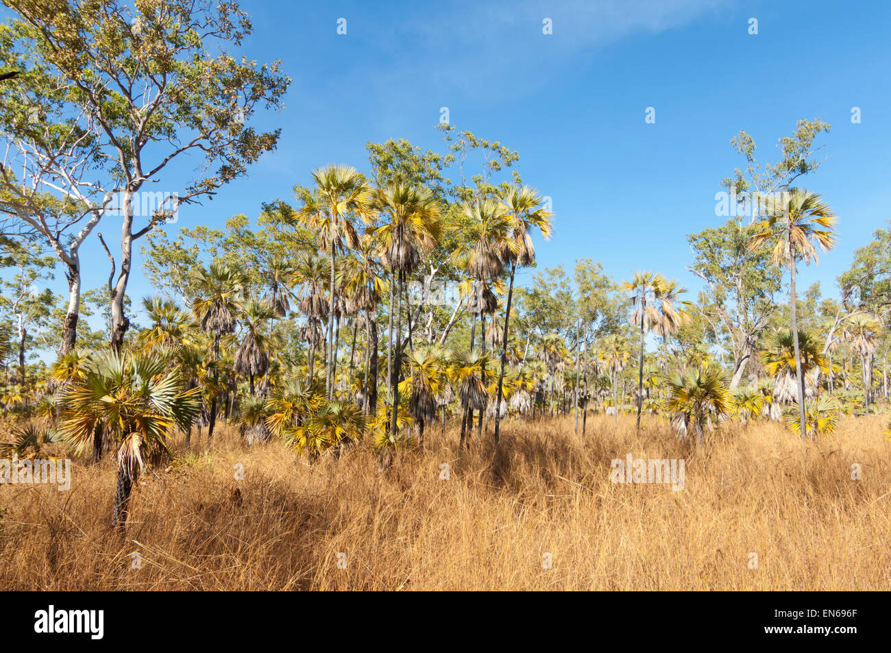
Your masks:
<svg viewBox="0 0 891 653"><path fill-rule="evenodd" d="M517 265L527 267L535 263L535 246L529 232L538 229L544 239L551 238L552 213L544 208L544 200L534 188L529 186L513 186L501 196L506 214L510 220L503 258L511 264L511 281L507 290L507 305L504 307L504 335L501 350L501 369L498 371L498 390L495 394L495 442L498 442L498 431L501 424L501 403L503 395L504 365L507 363L508 329L511 321L511 301L513 299L513 279Z"/></svg>

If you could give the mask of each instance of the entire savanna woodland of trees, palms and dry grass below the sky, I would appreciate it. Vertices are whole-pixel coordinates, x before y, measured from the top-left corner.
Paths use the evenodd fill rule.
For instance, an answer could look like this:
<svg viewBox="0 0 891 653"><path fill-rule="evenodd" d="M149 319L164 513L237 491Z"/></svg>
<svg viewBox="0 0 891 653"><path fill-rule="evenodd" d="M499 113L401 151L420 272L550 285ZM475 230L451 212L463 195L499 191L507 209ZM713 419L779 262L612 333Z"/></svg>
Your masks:
<svg viewBox="0 0 891 653"><path fill-rule="evenodd" d="M537 268L548 189L447 121L228 216L291 83L242 56L246 13L4 4L4 588L887 587L891 228L797 285L845 229L809 184L826 122L770 163L732 138L691 291L596 247ZM683 491L611 482L629 452ZM61 459L69 492L8 482Z"/></svg>

